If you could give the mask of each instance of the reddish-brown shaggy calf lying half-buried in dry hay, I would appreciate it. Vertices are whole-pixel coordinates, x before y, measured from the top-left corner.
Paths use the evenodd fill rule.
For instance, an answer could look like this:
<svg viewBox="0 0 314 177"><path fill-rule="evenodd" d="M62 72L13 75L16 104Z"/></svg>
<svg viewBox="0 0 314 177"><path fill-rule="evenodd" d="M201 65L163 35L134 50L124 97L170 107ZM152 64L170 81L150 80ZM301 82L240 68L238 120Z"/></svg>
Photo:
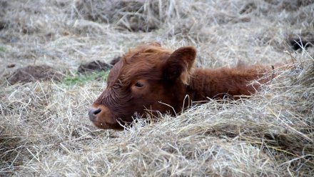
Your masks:
<svg viewBox="0 0 314 177"><path fill-rule="evenodd" d="M193 68L195 59L192 46L172 52L153 43L128 51L111 69L106 90L88 113L90 120L99 128L121 129L121 124L133 121L134 113L175 114L191 101L249 96L258 89L249 82L271 70L270 66L198 69Z"/></svg>

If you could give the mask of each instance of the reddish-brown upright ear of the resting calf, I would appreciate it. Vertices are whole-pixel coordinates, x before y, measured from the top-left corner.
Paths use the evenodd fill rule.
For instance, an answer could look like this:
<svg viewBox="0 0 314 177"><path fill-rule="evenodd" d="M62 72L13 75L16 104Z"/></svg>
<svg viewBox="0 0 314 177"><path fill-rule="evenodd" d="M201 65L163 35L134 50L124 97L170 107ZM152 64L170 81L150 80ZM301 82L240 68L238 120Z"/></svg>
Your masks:
<svg viewBox="0 0 314 177"><path fill-rule="evenodd" d="M184 84L188 84L195 58L196 49L193 46L184 46L173 51L163 66L163 79L173 81L180 77Z"/></svg>

